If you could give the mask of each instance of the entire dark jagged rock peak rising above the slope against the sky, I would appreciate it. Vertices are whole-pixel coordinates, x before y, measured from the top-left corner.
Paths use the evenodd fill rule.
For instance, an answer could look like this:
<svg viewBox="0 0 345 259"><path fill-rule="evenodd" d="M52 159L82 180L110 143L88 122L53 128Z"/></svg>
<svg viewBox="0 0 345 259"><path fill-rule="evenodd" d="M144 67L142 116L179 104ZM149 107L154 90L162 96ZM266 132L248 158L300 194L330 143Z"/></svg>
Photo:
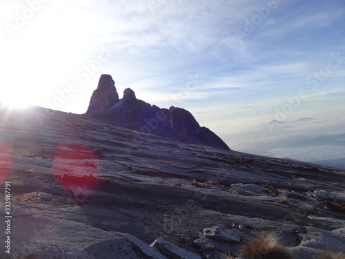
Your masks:
<svg viewBox="0 0 345 259"><path fill-rule="evenodd" d="M193 115L183 108L169 109L141 101L135 92L126 88L119 99L115 82L110 75L101 75L97 90L90 99L86 112L98 119L117 126L135 129L142 136L149 134L171 137L192 143L208 144L217 148L230 149L215 133L201 127Z"/></svg>

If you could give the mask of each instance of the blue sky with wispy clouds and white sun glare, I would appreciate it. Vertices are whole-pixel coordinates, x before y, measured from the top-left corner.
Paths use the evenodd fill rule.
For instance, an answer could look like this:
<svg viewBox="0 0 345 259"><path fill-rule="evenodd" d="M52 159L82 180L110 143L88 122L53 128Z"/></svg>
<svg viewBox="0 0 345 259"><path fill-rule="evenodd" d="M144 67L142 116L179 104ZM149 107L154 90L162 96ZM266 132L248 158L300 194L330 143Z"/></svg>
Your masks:
<svg viewBox="0 0 345 259"><path fill-rule="evenodd" d="M238 151L288 155L288 137L345 133L343 0L6 0L0 23L12 107L85 113L110 74L120 97L186 108ZM300 117L319 123L270 123ZM257 151L258 138L277 144Z"/></svg>

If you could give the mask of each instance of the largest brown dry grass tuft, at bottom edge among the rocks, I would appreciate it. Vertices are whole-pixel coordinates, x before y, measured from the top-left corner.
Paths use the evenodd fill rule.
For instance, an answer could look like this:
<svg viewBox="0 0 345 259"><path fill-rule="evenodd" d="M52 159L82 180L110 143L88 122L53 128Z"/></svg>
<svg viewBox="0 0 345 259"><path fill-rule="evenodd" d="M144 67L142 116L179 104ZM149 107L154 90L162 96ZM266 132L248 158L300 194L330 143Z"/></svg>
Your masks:
<svg viewBox="0 0 345 259"><path fill-rule="evenodd" d="M244 259L293 259L293 254L288 251L287 247L280 244L277 238L268 233L264 236L245 244L239 249L239 256Z"/></svg>

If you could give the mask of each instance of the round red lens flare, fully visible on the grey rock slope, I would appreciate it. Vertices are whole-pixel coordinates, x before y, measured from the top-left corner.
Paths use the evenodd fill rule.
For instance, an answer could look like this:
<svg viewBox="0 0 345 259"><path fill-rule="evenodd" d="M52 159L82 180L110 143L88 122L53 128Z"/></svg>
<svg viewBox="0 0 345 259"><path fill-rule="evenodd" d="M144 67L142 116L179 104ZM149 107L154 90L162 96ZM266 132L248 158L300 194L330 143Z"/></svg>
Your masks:
<svg viewBox="0 0 345 259"><path fill-rule="evenodd" d="M92 149L79 142L61 144L52 162L53 175L75 196L88 197L99 185L99 159Z"/></svg>

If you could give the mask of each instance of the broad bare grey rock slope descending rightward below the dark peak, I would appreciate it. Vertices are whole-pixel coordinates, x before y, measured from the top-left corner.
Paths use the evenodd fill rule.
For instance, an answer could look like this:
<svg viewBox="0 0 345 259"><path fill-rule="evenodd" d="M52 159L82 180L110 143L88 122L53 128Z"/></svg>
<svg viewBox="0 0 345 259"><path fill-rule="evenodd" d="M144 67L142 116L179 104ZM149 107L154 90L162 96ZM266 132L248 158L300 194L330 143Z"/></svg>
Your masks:
<svg viewBox="0 0 345 259"><path fill-rule="evenodd" d="M36 107L2 109L0 122L1 192L10 182L12 215L11 254L3 247L0 258L167 258L149 245L158 238L203 259L226 258L263 233L295 258L345 249L342 169ZM239 193L233 184L255 189ZM0 195L3 219L5 202ZM239 242L204 235L218 224ZM0 229L5 241L5 220Z"/></svg>

